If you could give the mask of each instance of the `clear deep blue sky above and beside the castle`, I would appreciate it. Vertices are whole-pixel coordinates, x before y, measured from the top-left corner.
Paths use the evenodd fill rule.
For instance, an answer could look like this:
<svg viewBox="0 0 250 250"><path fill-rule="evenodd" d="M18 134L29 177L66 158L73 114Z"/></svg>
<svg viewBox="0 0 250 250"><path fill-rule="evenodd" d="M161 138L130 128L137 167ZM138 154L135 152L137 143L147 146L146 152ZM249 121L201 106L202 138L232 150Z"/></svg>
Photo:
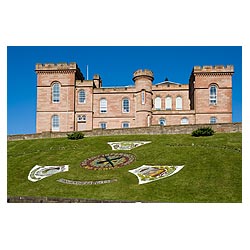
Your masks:
<svg viewBox="0 0 250 250"><path fill-rule="evenodd" d="M137 69L154 72L154 83L188 83L195 65L228 65L233 75L233 122L242 121L242 47L240 46L9 46L7 47L7 133L35 133L36 63L76 62L103 86L132 85Z"/></svg>

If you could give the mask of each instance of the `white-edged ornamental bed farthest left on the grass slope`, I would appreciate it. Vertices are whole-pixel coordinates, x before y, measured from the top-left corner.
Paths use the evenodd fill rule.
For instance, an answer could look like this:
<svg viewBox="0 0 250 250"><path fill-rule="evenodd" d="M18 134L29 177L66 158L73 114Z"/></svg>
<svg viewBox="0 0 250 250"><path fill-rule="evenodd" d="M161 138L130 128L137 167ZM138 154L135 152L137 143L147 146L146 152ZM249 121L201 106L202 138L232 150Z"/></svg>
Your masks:
<svg viewBox="0 0 250 250"><path fill-rule="evenodd" d="M49 177L51 175L66 172L69 171L69 165L63 165L63 166L34 166L28 175L28 180L32 182L40 181L46 177Z"/></svg>

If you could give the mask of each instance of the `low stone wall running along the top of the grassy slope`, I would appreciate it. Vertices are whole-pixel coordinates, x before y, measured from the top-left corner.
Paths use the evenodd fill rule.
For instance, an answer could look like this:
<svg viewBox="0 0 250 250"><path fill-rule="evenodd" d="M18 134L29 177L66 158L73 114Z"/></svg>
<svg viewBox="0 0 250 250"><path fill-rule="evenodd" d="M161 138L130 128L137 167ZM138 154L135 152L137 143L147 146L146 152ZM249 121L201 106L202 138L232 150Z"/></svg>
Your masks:
<svg viewBox="0 0 250 250"><path fill-rule="evenodd" d="M126 128L126 129L94 129L92 131L83 131L86 137L90 136L111 136L111 135L135 135L135 134L191 134L192 131L200 127L211 127L217 133L235 133L242 132L242 123L218 123L218 124L195 124L195 125L174 125L174 126L151 126L144 128ZM8 135L8 141L30 140L42 138L62 138L67 137L72 132L43 132L36 134Z"/></svg>

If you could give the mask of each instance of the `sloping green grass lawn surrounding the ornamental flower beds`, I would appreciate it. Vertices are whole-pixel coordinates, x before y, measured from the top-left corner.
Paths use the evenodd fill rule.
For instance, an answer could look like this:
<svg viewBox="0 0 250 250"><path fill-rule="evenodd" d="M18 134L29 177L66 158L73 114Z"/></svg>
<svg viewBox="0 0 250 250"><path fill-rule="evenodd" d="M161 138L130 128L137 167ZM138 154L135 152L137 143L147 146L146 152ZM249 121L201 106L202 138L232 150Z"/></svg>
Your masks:
<svg viewBox="0 0 250 250"><path fill-rule="evenodd" d="M107 142L143 140L150 144L130 151L112 151ZM242 134L126 135L8 142L8 196L83 198L148 202L241 202ZM80 163L88 157L114 152L132 153L136 160L111 170L88 170ZM69 171L38 182L28 180L35 165L69 165ZM141 165L185 165L177 174L138 185L128 172ZM117 179L101 185L69 185L77 181Z"/></svg>

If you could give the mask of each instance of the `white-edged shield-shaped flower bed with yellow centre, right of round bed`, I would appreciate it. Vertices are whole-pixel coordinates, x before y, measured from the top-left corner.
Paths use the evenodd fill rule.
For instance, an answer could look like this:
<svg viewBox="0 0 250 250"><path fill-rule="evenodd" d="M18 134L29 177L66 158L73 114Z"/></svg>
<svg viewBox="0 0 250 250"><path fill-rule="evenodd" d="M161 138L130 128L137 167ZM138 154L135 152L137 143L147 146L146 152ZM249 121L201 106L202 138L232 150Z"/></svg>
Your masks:
<svg viewBox="0 0 250 250"><path fill-rule="evenodd" d="M143 165L136 169L129 170L130 173L137 176L139 184L145 184L152 181L157 181L180 171L183 166L149 166Z"/></svg>

